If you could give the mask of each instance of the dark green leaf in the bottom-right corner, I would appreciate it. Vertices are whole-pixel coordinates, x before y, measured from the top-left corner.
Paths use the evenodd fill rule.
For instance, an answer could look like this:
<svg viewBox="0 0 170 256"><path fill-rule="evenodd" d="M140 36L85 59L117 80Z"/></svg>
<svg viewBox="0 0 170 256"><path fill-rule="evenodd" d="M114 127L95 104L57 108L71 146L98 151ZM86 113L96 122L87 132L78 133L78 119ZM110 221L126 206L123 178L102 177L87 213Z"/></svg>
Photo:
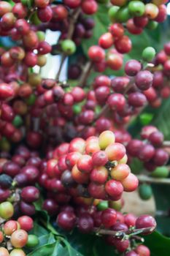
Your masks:
<svg viewBox="0 0 170 256"><path fill-rule="evenodd" d="M151 256L170 255L170 238L154 232L149 236L144 236L144 244L150 248Z"/></svg>

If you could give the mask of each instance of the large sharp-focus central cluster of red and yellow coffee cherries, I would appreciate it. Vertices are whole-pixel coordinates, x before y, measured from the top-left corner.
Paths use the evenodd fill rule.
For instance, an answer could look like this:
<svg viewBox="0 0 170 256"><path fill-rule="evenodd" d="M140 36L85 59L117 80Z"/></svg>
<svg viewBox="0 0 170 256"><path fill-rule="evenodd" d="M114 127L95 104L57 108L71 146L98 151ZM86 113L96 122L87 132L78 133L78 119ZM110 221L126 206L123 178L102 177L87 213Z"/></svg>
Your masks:
<svg viewBox="0 0 170 256"><path fill-rule="evenodd" d="M138 179L126 162L125 146L115 143L111 131L87 140L75 138L54 150L42 185L53 192L56 187L58 192L61 180L63 187L70 190L69 195L120 200L123 191L132 192L138 187Z"/></svg>

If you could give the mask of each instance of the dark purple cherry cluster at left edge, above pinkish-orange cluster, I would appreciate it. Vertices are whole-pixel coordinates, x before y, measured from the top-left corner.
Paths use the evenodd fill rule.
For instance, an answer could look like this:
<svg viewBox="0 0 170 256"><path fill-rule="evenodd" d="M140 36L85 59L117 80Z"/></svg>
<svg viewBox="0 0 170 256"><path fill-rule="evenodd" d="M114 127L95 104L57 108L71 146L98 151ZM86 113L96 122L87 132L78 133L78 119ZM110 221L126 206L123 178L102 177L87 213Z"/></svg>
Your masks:
<svg viewBox="0 0 170 256"><path fill-rule="evenodd" d="M20 213L34 215L34 202L39 199L39 189L35 184L39 178L41 159L31 157L30 151L23 146L17 148L12 159L9 157L4 155L0 160L0 202L3 204L8 200L15 208L15 216Z"/></svg>

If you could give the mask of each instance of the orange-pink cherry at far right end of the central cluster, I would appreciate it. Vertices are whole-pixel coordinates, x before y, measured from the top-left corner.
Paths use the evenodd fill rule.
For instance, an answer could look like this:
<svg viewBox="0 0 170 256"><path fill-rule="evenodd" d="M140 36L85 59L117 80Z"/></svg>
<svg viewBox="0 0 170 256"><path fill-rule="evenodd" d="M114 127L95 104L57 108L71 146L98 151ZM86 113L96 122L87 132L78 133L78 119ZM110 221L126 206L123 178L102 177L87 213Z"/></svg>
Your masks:
<svg viewBox="0 0 170 256"><path fill-rule="evenodd" d="M134 191L139 184L138 178L133 173L129 173L128 177L121 181L125 192Z"/></svg>

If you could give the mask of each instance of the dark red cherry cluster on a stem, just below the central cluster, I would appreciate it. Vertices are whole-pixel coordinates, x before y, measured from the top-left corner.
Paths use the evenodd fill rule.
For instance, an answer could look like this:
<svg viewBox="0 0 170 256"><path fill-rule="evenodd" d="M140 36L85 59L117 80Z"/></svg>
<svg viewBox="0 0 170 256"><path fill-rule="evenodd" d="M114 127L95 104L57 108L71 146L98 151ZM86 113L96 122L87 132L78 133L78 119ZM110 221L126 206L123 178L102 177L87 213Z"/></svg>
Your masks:
<svg viewBox="0 0 170 256"><path fill-rule="evenodd" d="M96 202L94 202L96 203ZM111 203L112 205L112 203ZM112 205L113 206L113 205ZM101 201L96 206L63 206L57 217L57 225L63 230L71 231L74 227L81 233L98 233L103 235L105 241L110 246L114 246L117 252L125 253L125 255L150 256L150 249L147 246L138 244L132 234L134 230L146 229L143 234L148 235L155 229L155 219L149 215L142 215L140 217L134 216L134 214L121 214L119 211L115 211L112 207L106 206L106 202ZM110 232L102 233L104 230ZM126 234L126 235L125 235Z"/></svg>

